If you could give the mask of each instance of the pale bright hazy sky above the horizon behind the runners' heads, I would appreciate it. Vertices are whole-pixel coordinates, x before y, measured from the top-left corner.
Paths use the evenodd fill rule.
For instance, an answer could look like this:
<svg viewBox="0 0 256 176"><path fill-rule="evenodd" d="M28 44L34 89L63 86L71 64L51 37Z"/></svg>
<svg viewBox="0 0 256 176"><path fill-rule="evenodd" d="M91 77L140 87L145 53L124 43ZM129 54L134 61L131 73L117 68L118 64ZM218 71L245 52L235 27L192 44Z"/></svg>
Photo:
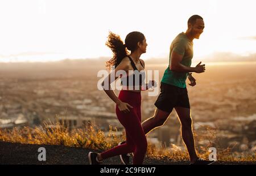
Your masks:
<svg viewBox="0 0 256 176"><path fill-rule="evenodd" d="M174 37L198 14L205 29L194 58L214 52L256 53L256 1L1 0L0 62L111 57L108 32L125 40L141 31L142 58L168 57Z"/></svg>

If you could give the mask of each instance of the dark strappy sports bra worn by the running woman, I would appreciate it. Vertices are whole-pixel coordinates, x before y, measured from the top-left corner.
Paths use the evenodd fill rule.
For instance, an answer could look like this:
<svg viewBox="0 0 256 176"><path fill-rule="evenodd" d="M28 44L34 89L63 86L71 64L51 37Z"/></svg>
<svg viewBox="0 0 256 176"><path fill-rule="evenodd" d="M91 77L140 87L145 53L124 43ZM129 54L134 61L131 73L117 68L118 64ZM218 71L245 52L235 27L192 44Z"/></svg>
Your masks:
<svg viewBox="0 0 256 176"><path fill-rule="evenodd" d="M135 72L130 76L122 76L120 78L121 84L123 86L127 86L127 87L128 86L134 87L134 86L142 85L142 83L144 83L145 77L146 77L144 70L139 71L138 68L135 66L135 63L133 62L133 59L131 59L131 57L129 55L127 55L127 57L130 59L131 66L133 67L133 70ZM141 62L141 60L139 60L139 62ZM141 63L141 65L142 65L142 63ZM143 65L142 65L142 67L143 67Z"/></svg>

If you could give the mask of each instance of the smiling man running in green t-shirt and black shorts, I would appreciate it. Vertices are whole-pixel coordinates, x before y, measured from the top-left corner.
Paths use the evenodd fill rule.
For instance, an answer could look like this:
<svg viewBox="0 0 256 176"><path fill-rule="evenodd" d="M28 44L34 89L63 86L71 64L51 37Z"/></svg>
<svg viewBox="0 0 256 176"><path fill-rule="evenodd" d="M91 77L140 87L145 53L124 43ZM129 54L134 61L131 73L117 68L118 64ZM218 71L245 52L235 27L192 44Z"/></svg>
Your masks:
<svg viewBox="0 0 256 176"><path fill-rule="evenodd" d="M192 119L189 105L188 92L185 80L191 81L189 85L195 86L196 80L191 72L205 72L205 65L201 62L196 67L191 67L193 58L193 40L199 39L204 30L204 20L199 15L193 15L188 19L187 31L179 33L171 43L170 60L164 72L161 84L160 95L155 102L155 114L142 123L144 133L164 125L172 109L176 113L181 123L181 135L188 149L191 164L212 164L214 161L203 160L197 157L194 136L192 131ZM122 143L125 143L123 141ZM121 144L122 144L121 143ZM129 164L129 154L120 155L123 164Z"/></svg>

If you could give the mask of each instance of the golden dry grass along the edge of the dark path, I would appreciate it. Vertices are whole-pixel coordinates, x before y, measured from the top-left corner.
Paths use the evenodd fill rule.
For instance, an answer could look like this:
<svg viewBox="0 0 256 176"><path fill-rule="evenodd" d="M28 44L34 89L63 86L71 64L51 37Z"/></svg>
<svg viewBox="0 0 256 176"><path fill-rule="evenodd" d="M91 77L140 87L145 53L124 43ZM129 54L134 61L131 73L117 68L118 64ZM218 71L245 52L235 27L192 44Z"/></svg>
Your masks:
<svg viewBox="0 0 256 176"><path fill-rule="evenodd" d="M217 159L222 161L256 161L254 152L230 152L232 146L226 149L221 148L216 139L216 130L208 129L210 135L195 134L196 141L209 140L208 145L199 145L197 148L200 157L208 158L208 148L214 146L217 148ZM125 140L125 134L117 136L114 134L116 128L110 126L109 134L105 135L103 131L98 130L96 125L88 126L83 129L69 131L68 128L60 123L45 123L43 126L31 128L13 128L11 130L0 130L0 140L12 143L22 144L46 144L46 145L65 145L69 147L90 148L100 151L113 148L119 141ZM202 137L203 136L203 137ZM216 142L217 141L217 142ZM187 150L181 149L172 144L170 147L158 148L152 143L148 143L147 156L154 158L171 158L171 160L188 160Z"/></svg>

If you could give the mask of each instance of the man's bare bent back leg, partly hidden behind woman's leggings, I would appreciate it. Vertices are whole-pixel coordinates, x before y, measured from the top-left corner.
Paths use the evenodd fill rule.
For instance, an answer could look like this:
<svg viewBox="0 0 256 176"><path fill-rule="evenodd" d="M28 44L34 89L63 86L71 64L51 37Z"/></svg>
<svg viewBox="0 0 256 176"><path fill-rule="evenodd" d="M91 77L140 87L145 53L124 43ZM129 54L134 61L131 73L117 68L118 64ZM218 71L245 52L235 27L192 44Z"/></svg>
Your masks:
<svg viewBox="0 0 256 176"><path fill-rule="evenodd" d="M155 128L164 125L164 122L166 122L170 113L156 108L154 116L142 122L144 134L148 134L148 132L154 130Z"/></svg>

